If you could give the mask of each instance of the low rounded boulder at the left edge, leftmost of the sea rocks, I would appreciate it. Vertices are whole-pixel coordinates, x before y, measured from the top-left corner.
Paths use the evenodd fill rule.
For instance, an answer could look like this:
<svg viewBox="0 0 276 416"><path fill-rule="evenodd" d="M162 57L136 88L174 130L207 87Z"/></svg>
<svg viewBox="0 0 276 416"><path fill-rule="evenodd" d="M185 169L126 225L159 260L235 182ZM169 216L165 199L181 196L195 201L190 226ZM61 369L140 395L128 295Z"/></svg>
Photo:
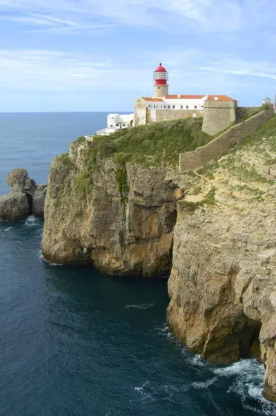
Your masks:
<svg viewBox="0 0 276 416"><path fill-rule="evenodd" d="M0 221L26 220L29 202L25 193L14 192L0 196Z"/></svg>

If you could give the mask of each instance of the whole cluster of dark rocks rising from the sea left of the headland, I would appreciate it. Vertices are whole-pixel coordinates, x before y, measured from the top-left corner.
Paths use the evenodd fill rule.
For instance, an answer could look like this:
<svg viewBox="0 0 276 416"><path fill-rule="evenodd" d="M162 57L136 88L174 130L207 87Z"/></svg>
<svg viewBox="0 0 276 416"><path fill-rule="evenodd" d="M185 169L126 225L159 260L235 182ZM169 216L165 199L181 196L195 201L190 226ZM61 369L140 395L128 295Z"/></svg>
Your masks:
<svg viewBox="0 0 276 416"><path fill-rule="evenodd" d="M26 169L14 169L7 176L11 193L0 196L0 221L26 220L30 214L43 218L47 185L36 185Z"/></svg>

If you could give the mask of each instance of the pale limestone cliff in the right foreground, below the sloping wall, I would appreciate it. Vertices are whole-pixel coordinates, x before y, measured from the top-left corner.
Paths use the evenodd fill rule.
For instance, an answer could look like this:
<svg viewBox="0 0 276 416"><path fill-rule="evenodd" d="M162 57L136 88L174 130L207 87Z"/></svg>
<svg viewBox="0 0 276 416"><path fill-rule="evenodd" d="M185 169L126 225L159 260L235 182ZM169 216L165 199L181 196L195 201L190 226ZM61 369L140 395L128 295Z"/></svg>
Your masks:
<svg viewBox="0 0 276 416"><path fill-rule="evenodd" d="M170 330L213 363L257 357L276 400L276 119L195 172L179 200ZM185 180L182 177L182 180Z"/></svg>

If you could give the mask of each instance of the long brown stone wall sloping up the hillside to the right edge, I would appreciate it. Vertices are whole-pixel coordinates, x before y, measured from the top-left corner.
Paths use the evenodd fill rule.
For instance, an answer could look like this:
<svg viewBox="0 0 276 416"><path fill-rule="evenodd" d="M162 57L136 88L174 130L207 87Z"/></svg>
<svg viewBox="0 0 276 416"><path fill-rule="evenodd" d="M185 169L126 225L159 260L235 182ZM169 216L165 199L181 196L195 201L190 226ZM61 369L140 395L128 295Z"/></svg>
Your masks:
<svg viewBox="0 0 276 416"><path fill-rule="evenodd" d="M268 110L253 115L248 120L231 127L205 146L198 147L195 151L180 153L179 171L193 171L203 167L211 160L221 156L222 153L229 149L231 144L242 142L249 135L255 133L274 114L274 108L270 106Z"/></svg>

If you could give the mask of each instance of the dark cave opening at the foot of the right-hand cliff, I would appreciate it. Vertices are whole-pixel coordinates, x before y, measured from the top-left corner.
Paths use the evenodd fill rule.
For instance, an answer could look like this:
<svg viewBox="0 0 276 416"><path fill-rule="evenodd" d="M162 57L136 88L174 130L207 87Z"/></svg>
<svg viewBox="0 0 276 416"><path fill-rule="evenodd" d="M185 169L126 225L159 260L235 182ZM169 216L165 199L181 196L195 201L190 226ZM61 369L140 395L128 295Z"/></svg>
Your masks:
<svg viewBox="0 0 276 416"><path fill-rule="evenodd" d="M260 357L259 331L261 323L250 320L248 325L242 332L239 341L239 357L240 358L257 358Z"/></svg>

